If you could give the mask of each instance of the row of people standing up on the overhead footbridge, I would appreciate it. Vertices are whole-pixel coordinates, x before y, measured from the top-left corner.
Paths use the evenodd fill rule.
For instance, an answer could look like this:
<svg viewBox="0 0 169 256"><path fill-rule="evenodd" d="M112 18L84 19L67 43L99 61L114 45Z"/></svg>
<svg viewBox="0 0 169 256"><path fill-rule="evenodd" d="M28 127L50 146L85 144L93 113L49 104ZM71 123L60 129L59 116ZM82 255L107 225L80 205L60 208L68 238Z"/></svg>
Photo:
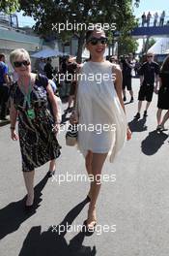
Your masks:
<svg viewBox="0 0 169 256"><path fill-rule="evenodd" d="M142 19L142 27L144 26L150 26L151 18L154 17L154 26L163 26L164 25L164 18L165 18L165 11L163 11L160 16L157 12L155 12L154 15L149 12L147 15L144 12L143 15L141 16Z"/></svg>

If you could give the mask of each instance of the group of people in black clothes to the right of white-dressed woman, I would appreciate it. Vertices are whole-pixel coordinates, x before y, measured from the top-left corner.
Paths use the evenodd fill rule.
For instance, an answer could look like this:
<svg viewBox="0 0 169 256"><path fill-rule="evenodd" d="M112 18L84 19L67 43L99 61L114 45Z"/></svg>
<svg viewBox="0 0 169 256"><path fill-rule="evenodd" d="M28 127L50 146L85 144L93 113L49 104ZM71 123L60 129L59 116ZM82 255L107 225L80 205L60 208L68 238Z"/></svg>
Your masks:
<svg viewBox="0 0 169 256"><path fill-rule="evenodd" d="M157 131L163 131L164 123L169 118L169 56L165 58L161 67L154 61L154 53L148 52L141 64L138 60L133 58L132 53L128 55L121 56L119 59L117 56L112 56L110 61L119 64L122 69L123 74L123 94L124 102L127 101L126 88L130 94L130 103L133 102L133 91L131 86L131 78L133 76L138 76L140 78L140 89L138 93L138 109L134 118L139 119L141 114L141 108L143 101L146 101L146 107L143 116L148 116L148 109L153 100L154 93L158 95L157 100ZM135 71L135 74L133 74ZM161 118L161 113L166 110L163 118Z"/></svg>

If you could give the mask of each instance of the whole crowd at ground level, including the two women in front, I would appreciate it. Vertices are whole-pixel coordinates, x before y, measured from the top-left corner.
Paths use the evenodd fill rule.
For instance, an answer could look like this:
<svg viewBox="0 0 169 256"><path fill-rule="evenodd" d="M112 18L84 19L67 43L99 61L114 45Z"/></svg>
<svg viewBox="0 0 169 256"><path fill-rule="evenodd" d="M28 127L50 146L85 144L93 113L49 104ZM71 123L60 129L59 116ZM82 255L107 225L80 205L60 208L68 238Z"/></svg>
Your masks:
<svg viewBox="0 0 169 256"><path fill-rule="evenodd" d="M143 64L136 61L132 53L120 56L119 59L112 56L105 60L103 54L106 43L104 31L97 28L90 30L86 33L86 48L90 51L90 59L79 65L72 57L66 57L61 63L60 73L81 74L81 78L89 78L90 74L93 74L94 80L80 80L76 76L62 84L58 84L56 80L58 87L64 86L63 84L69 87L70 98L66 112L70 110L73 99L71 125L88 127L89 124L93 124L95 127L97 124L114 124L116 127L115 130L106 129L101 133L96 129L78 130L78 149L84 156L87 174L94 177L101 175L106 158L109 156L110 162L113 162L126 140L131 138L124 102L127 101L126 88L130 95L129 102L132 104L134 101L133 76L140 76L138 111L134 117L140 118L142 102L145 100L147 105L144 116L148 115L155 92L158 93L156 130L162 131L164 123L169 118L169 56L164 60L161 69L154 61L152 52L147 53ZM55 160L61 154L61 145L57 140L59 107L50 82L53 78L50 59L46 62L41 59L37 74L32 73L29 53L23 48L14 49L10 54L10 61L16 75L14 82L9 79L5 55L0 54L1 119L6 118L6 104L10 98L11 138L14 141L19 140L20 143L22 172L27 190L25 208L30 209L34 206L35 168L49 161L48 176L54 175ZM98 74L101 78L106 74L106 80L98 82ZM167 111L163 119L162 110ZM87 194L90 205L85 225L88 232L97 224L96 206L99 190L100 183L94 178Z"/></svg>

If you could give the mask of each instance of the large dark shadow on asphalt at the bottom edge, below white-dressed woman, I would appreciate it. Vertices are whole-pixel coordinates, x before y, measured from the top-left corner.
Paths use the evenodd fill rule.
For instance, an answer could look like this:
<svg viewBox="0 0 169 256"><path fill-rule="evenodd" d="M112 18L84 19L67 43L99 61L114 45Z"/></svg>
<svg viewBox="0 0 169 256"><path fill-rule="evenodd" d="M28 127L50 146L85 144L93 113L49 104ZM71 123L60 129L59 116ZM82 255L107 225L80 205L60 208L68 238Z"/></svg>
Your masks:
<svg viewBox="0 0 169 256"><path fill-rule="evenodd" d="M68 227L86 204L87 200L84 200L72 208L58 226L50 226L46 232L41 233L41 226L33 227L24 240L18 256L95 256L97 254L95 246L91 248L82 245L85 238L83 230L70 240L70 243L64 238L69 232Z"/></svg>

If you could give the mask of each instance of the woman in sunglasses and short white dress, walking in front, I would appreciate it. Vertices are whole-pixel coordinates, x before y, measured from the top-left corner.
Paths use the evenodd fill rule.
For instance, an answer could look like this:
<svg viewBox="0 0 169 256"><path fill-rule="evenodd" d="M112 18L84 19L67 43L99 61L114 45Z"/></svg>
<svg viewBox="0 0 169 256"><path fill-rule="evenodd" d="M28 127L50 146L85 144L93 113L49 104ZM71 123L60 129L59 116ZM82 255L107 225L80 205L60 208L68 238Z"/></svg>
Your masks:
<svg viewBox="0 0 169 256"><path fill-rule="evenodd" d="M88 175L94 177L88 194L90 205L85 221L88 231L94 230L97 223L98 176L104 161L109 155L113 162L131 137L122 100L122 72L118 65L104 59L106 43L102 30L87 32L86 48L91 58L79 69L77 112L70 117L71 124L78 122L78 148L85 157Z"/></svg>

